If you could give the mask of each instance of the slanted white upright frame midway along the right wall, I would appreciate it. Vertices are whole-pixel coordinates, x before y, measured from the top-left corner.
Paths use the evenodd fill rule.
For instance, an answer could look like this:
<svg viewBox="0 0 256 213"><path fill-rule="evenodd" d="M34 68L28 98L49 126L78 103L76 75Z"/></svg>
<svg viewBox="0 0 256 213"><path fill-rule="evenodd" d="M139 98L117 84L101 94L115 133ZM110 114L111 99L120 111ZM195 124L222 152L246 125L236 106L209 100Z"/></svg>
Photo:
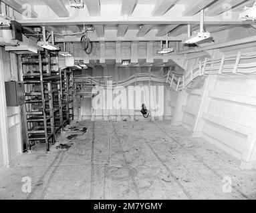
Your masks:
<svg viewBox="0 0 256 213"><path fill-rule="evenodd" d="M205 112L208 112L209 106L211 104L211 98L209 97L209 92L214 91L217 78L218 78L218 75L209 75L205 80L202 101L199 107L199 112L195 120L195 126L193 128L192 136L194 138L203 137L203 127L205 126L205 119L203 118L203 114Z"/></svg>

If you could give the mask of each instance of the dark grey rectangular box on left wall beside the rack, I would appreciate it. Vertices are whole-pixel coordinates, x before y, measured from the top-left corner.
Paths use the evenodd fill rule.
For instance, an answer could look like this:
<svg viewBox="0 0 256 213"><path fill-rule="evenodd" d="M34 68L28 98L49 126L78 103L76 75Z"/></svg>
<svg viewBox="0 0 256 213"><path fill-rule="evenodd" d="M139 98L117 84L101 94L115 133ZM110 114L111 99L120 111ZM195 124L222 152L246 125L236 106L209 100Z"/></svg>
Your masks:
<svg viewBox="0 0 256 213"><path fill-rule="evenodd" d="M19 107L25 104L25 87L23 82L5 82L7 107Z"/></svg>

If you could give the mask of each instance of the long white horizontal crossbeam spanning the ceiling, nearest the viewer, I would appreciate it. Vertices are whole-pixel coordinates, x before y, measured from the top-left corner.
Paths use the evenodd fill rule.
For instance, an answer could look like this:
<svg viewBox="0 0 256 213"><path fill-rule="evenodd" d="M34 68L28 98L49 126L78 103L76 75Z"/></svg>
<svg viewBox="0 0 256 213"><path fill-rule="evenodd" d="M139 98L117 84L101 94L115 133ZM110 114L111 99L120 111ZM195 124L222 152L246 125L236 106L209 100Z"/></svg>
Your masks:
<svg viewBox="0 0 256 213"><path fill-rule="evenodd" d="M222 16L217 17L205 17L205 25L245 25L251 24L251 21L239 21L237 17L241 12L233 12L231 19L223 19ZM132 19L124 19L124 17L111 17L111 16L101 16L101 17L86 17L80 15L79 17L74 17L73 19L35 19L35 20L19 20L19 23L25 26L37 26L37 25L141 25L141 17L132 17ZM182 14L170 15L166 17L144 17L144 25L198 25L199 17L197 15L184 17Z"/></svg>

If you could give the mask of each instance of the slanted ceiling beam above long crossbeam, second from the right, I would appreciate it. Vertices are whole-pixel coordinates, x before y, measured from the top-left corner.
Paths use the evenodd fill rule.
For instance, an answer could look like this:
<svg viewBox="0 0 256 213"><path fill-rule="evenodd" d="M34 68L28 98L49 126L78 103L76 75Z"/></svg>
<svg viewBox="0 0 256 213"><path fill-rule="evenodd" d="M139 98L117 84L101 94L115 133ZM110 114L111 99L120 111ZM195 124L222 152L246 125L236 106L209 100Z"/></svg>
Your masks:
<svg viewBox="0 0 256 213"><path fill-rule="evenodd" d="M182 15L193 16L199 13L199 11L201 11L202 9L205 9L206 7L214 3L215 1L217 0L201 0L201 1L197 1L197 3L193 1L193 4L188 5L186 10L182 13Z"/></svg>

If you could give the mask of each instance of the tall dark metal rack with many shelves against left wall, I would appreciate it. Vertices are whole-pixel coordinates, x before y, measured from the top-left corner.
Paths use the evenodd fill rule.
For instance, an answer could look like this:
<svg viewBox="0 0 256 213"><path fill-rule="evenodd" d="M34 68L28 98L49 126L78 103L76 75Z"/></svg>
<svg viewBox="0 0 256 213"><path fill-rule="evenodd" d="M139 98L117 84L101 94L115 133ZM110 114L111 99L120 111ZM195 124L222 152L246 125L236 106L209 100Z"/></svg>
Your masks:
<svg viewBox="0 0 256 213"><path fill-rule="evenodd" d="M27 149L45 142L49 151L57 132L74 118L72 70L59 69L58 52L43 51L21 55L22 79L25 84L25 121ZM71 108L70 108L71 107Z"/></svg>

